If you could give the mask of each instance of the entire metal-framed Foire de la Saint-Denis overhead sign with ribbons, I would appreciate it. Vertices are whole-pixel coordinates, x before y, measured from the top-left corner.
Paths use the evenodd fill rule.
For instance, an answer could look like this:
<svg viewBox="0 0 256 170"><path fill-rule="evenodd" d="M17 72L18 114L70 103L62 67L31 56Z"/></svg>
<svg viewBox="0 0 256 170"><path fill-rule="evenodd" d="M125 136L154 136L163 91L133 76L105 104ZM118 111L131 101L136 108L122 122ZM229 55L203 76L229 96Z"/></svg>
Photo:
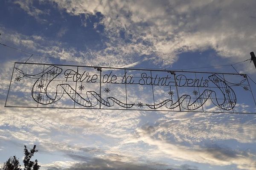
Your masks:
<svg viewBox="0 0 256 170"><path fill-rule="evenodd" d="M6 107L253 113L245 74L15 63Z"/></svg>

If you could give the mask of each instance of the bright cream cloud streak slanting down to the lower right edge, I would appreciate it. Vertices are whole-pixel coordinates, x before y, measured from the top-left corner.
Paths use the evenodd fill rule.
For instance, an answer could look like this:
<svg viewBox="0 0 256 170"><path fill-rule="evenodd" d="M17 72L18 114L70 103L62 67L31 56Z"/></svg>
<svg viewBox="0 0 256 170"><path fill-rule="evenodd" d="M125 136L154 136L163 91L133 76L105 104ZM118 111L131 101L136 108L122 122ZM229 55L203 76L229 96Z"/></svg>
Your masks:
<svg viewBox="0 0 256 170"><path fill-rule="evenodd" d="M170 126L169 129L170 128L176 130L173 126ZM192 134L192 131L188 130L186 133ZM211 146L194 144L191 147L188 147L186 145L181 145L180 142L172 142L172 140L168 139L167 136L169 135L166 133L168 133L168 128L163 128L159 125L137 128L137 142L143 141L152 146L151 157L166 155L166 157L170 156L172 159L180 161L195 161L198 163L220 166L236 164L238 168L246 167L245 169L254 169L255 155L250 152L236 151L228 147L220 147L216 144ZM162 134L166 135L163 136ZM193 133L193 136L197 136L197 134ZM207 138L204 139L207 140Z"/></svg>

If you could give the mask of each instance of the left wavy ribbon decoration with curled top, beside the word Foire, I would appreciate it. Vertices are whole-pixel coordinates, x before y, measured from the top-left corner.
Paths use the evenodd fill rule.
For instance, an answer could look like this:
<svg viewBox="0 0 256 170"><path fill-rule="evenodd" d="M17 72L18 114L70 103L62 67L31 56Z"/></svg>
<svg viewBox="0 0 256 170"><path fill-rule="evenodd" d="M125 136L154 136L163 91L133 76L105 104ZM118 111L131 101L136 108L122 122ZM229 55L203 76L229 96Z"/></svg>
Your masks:
<svg viewBox="0 0 256 170"><path fill-rule="evenodd" d="M36 80L32 88L32 97L36 102L42 105L49 105L57 102L59 99L61 99L63 94L66 93L68 96L70 96L71 99L73 99L74 102L84 107L94 107L98 105L99 102L102 105L108 107L113 106L114 103L116 103L119 106L122 106L123 108L131 108L132 106L134 106L134 104L125 104L119 101L118 99L115 99L114 97L108 97L106 100L104 100L95 91L87 91L86 98L84 98L68 84L58 84L56 86L56 92L54 97L50 97L47 94L47 88L49 86L49 83L52 82L52 80L55 79L55 77L57 77L59 74L61 74L61 72L61 68L53 65L42 72L42 76ZM30 78L38 77L38 74L28 75L23 73L23 75ZM97 102L94 105L90 100L89 96L93 96L96 99Z"/></svg>

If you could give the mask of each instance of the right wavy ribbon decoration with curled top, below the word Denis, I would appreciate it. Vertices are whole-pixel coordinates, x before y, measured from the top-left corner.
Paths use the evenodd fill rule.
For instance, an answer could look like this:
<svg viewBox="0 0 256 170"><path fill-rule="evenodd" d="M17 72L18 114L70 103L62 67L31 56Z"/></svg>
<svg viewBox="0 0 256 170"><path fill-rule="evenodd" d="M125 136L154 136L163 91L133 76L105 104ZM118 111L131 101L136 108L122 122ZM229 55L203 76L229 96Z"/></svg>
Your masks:
<svg viewBox="0 0 256 170"><path fill-rule="evenodd" d="M173 109L178 107L179 105L182 106L182 108L193 111L198 108L200 108L204 103L207 101L207 99L211 99L212 103L216 105L218 108L224 109L224 110L231 110L236 105L236 94L233 91L232 88L230 88L229 85L225 82L224 79L222 79L220 76L213 74L208 77L211 82L213 82L221 91L221 93L224 96L224 101L222 103L219 103L216 92L212 90L204 90L203 93L195 99L194 102L191 102L191 96L190 95L182 95L175 103L170 100L164 100L163 102L160 102L156 105L149 105L146 104L151 109L157 109L162 106L166 106L166 108Z"/></svg>

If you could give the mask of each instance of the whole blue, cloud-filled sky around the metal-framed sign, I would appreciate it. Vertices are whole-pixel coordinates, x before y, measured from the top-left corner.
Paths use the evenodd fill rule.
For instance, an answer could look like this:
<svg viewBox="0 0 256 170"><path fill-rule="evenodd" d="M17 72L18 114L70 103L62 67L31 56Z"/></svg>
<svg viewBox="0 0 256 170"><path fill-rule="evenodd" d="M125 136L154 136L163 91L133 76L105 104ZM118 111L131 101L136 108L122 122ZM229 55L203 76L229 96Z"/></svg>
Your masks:
<svg viewBox="0 0 256 170"><path fill-rule="evenodd" d="M1 0L0 43L46 56L34 55L32 63L237 71L255 81L253 63L242 62L256 51L255 6L254 0ZM256 170L256 115L246 114L256 111L250 79L254 93L236 93L240 114L6 108L14 63L30 54L3 45L0 51L0 164L14 155L22 163L23 146L35 144L42 170ZM23 80L26 91L16 90L31 92L34 80ZM140 93L131 98L151 96Z"/></svg>

